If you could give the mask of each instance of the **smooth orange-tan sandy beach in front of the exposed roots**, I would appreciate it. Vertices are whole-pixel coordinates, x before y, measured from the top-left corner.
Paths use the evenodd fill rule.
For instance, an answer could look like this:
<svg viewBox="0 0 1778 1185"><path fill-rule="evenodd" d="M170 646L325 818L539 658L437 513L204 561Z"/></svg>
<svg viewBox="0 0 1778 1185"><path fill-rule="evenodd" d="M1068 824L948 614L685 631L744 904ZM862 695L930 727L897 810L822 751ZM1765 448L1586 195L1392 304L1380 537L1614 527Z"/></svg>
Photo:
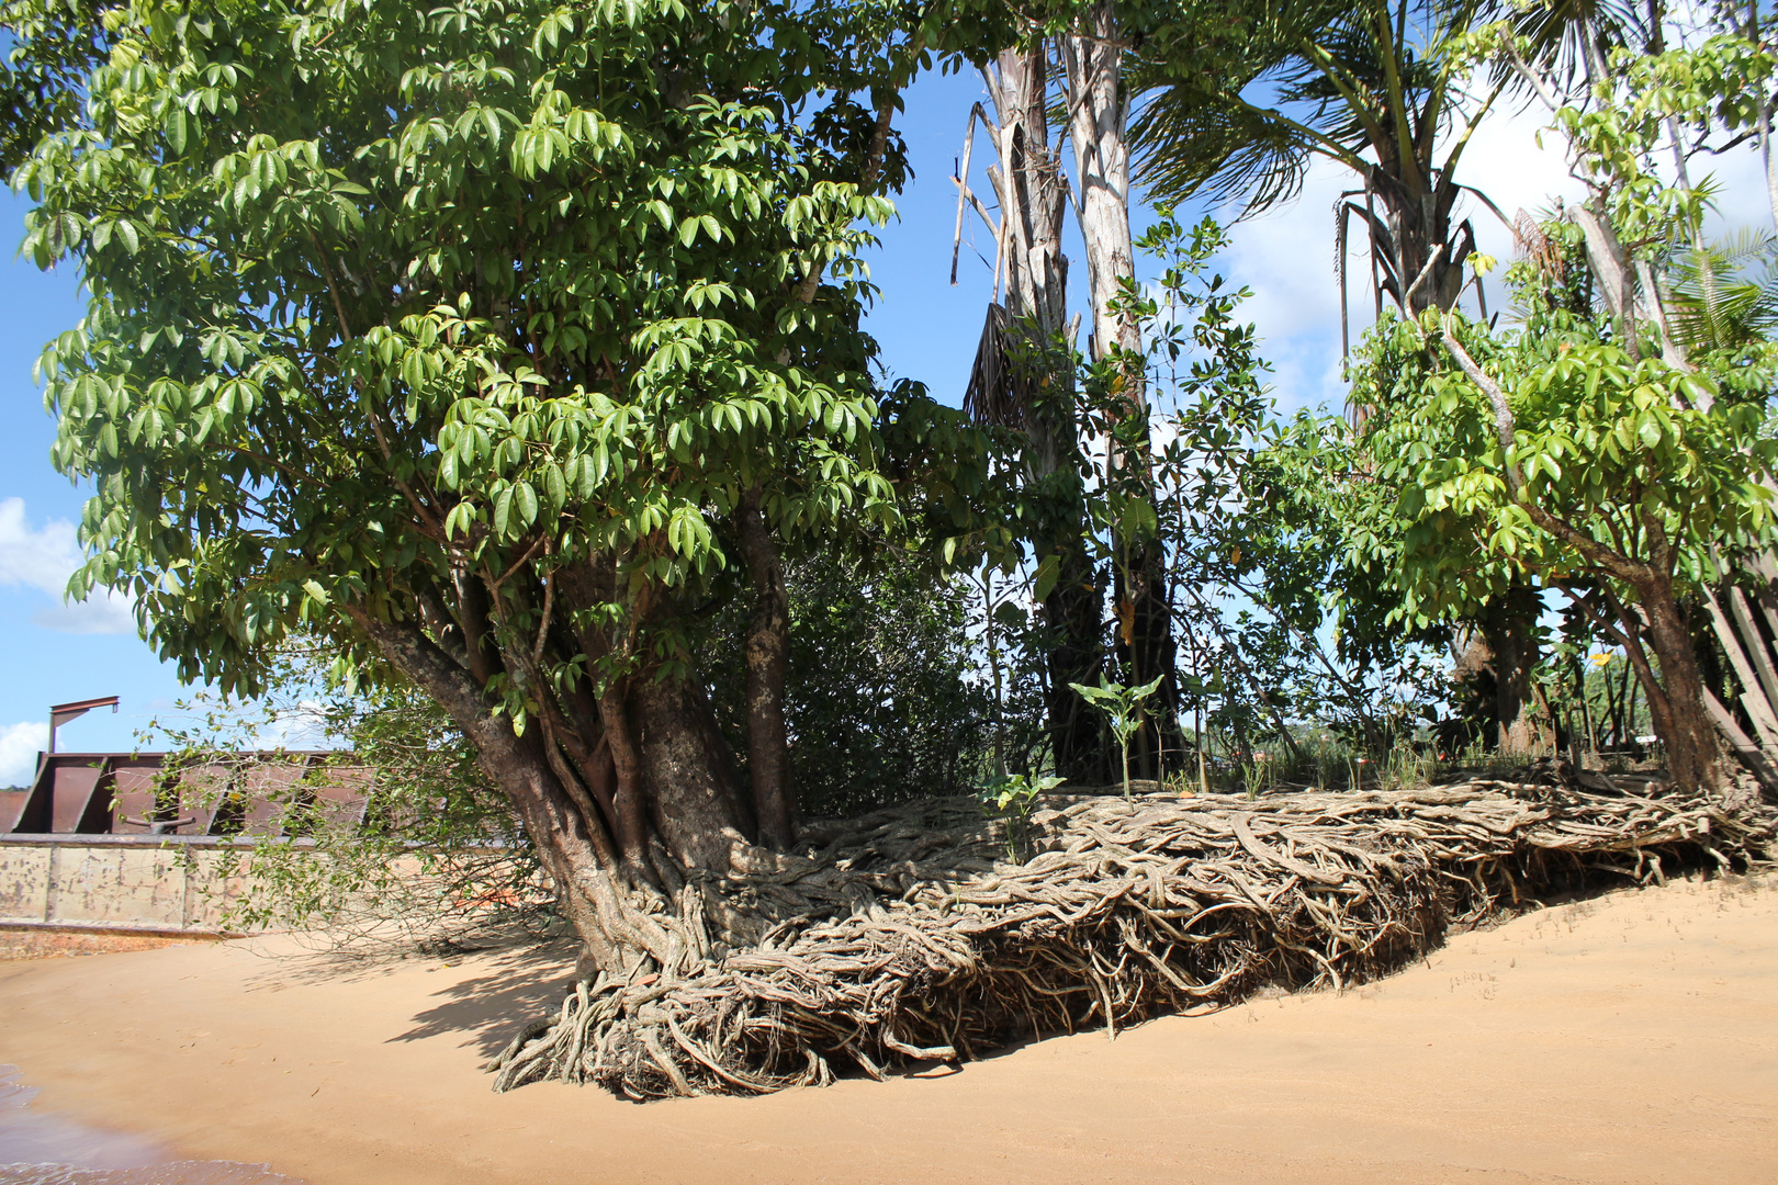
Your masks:
<svg viewBox="0 0 1778 1185"><path fill-rule="evenodd" d="M1778 881L1630 890L1383 982L754 1100L496 1096L569 963L236 942L0 965L34 1109L309 1185L1778 1180Z"/></svg>

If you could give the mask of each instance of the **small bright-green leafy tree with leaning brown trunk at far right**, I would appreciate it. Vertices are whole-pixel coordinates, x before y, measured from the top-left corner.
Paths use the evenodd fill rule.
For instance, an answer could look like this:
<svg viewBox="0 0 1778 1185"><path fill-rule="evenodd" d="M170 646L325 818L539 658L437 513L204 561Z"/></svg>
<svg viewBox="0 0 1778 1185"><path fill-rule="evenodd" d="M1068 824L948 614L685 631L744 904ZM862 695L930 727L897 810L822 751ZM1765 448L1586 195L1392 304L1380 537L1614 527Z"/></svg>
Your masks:
<svg viewBox="0 0 1778 1185"><path fill-rule="evenodd" d="M1565 316L1533 316L1504 341L1449 316L1426 325L1456 370L1433 368L1382 469L1412 522L1406 581L1428 602L1462 595L1479 540L1568 592L1636 666L1675 783L1719 789L1682 604L1721 579L1725 554L1778 538L1764 485L1778 446L1764 400L1748 398L1764 378L1725 375L1725 391ZM1442 455L1419 444L1433 421L1454 432Z"/></svg>

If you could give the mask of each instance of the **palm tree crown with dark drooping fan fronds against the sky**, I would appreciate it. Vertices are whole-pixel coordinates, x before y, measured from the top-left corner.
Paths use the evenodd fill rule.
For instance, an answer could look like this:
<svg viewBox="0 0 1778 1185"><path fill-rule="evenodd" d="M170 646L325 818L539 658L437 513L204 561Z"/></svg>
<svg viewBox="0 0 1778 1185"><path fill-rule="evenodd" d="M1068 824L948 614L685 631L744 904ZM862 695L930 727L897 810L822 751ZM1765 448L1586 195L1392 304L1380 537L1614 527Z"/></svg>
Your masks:
<svg viewBox="0 0 1778 1185"><path fill-rule="evenodd" d="M1138 176L1163 201L1207 194L1257 213L1294 197L1316 156L1339 162L1357 176L1335 206L1342 345L1351 219L1369 236L1378 311L1385 295L1408 314L1449 309L1476 249L1474 226L1453 224L1458 199L1501 213L1458 181L1458 163L1506 78L1472 94L1447 48L1495 11L1492 0L1182 9L1133 66Z"/></svg>

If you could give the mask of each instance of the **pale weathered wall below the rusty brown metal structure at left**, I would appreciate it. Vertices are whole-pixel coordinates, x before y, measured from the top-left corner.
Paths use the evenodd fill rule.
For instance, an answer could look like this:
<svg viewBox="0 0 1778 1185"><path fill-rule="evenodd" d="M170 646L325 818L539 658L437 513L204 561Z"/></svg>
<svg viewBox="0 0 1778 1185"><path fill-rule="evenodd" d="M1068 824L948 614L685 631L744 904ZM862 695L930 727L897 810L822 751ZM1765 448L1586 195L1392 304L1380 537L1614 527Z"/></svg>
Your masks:
<svg viewBox="0 0 1778 1185"><path fill-rule="evenodd" d="M217 934L245 844L187 835L0 835L0 927Z"/></svg>

